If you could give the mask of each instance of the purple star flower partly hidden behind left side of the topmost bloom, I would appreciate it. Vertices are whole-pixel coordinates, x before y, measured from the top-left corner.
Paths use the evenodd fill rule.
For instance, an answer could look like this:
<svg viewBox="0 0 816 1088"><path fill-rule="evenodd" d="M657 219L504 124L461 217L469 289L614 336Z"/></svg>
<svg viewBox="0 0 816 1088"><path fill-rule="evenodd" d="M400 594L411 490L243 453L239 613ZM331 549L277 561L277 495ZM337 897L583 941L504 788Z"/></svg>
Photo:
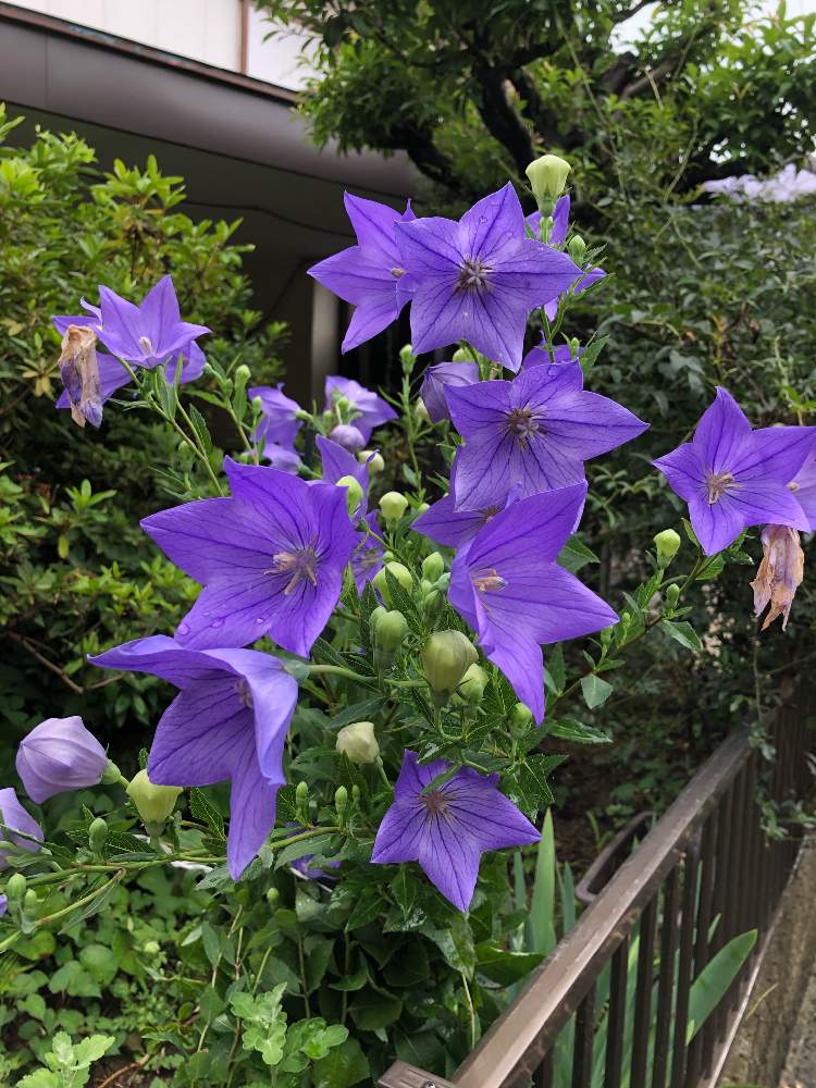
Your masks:
<svg viewBox="0 0 816 1088"><path fill-rule="evenodd" d="M343 351L350 351L395 321L411 297L413 284L403 268L394 227L415 215L410 202L400 214L350 193L344 201L357 245L314 264L309 275L356 307L343 339Z"/></svg>

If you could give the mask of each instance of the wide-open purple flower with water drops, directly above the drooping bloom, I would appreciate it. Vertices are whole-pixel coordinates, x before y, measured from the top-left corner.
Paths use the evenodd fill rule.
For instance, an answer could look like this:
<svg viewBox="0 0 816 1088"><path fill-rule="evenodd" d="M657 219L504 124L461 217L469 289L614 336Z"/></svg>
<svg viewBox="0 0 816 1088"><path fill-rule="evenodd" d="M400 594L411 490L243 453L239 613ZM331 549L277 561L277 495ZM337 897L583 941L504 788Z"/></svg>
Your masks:
<svg viewBox="0 0 816 1088"><path fill-rule="evenodd" d="M268 634L308 655L339 597L357 534L341 487L224 460L231 498L153 514L141 527L205 589L176 629L190 650Z"/></svg>

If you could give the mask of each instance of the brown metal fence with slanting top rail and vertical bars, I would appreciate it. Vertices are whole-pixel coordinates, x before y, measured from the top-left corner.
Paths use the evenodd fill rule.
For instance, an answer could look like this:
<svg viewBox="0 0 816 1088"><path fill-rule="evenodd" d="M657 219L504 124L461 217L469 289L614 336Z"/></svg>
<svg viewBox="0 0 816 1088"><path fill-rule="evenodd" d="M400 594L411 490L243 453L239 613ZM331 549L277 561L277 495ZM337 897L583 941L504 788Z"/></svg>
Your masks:
<svg viewBox="0 0 816 1088"><path fill-rule="evenodd" d="M782 707L768 792L802 798L813 698ZM708 1088L716 1084L799 851L770 841L758 752L735 729L454 1074L404 1062L381 1088ZM732 938L754 950L690 1039L692 982Z"/></svg>

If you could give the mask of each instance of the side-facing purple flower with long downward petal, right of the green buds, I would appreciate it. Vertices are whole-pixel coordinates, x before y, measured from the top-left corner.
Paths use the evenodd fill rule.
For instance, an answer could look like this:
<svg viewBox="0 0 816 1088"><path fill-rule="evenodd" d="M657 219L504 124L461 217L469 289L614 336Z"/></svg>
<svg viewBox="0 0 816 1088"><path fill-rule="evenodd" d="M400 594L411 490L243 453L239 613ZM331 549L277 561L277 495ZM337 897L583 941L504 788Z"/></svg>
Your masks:
<svg viewBox="0 0 816 1088"><path fill-rule="evenodd" d="M448 599L535 720L544 717L542 644L616 623L613 609L556 562L586 484L514 503L454 559Z"/></svg>

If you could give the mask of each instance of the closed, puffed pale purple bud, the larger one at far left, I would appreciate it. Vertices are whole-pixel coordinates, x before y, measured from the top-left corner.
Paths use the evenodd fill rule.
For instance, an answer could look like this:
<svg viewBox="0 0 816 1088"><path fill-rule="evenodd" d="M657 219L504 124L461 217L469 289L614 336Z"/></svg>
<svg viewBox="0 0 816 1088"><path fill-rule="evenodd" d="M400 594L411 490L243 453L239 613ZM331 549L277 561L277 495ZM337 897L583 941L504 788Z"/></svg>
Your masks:
<svg viewBox="0 0 816 1088"><path fill-rule="evenodd" d="M79 717L48 718L20 742L17 774L38 805L57 793L96 786L108 756Z"/></svg>

